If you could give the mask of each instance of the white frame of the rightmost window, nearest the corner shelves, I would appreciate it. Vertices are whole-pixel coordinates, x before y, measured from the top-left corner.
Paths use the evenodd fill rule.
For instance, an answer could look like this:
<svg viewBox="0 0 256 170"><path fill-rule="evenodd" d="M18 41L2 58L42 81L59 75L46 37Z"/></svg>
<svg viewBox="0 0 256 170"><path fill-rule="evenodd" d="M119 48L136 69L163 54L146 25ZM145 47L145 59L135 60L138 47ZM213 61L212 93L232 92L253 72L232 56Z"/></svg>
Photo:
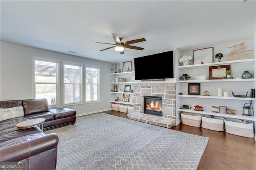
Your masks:
<svg viewBox="0 0 256 170"><path fill-rule="evenodd" d="M97 89L97 91L98 91L98 100L95 100L95 101L86 101L86 95L87 95L87 93L86 93L86 91L87 91L87 88L86 88L86 86L87 86L87 83L86 83L86 76L87 76L87 67L89 67L89 68L94 68L94 69L98 69L99 70L99 73L98 73L98 89ZM85 81L85 95L84 95L84 103L97 103L97 102L100 102L100 66L98 66L98 65L85 65L85 69L84 69L84 71L85 71L85 79L84 79L84 81Z"/></svg>

